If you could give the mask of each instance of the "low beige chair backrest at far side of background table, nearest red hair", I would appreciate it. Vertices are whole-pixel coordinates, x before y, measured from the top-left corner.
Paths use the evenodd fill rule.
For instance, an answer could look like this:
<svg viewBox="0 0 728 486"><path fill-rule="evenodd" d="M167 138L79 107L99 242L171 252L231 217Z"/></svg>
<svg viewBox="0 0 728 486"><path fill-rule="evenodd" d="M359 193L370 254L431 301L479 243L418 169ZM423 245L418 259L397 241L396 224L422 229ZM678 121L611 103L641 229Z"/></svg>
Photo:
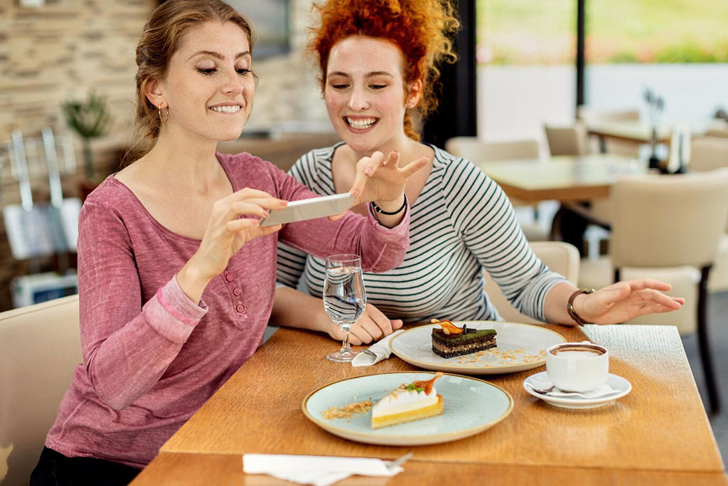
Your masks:
<svg viewBox="0 0 728 486"><path fill-rule="evenodd" d="M445 142L445 150L472 162L537 159L539 144L535 140L484 142L478 137L453 137Z"/></svg>

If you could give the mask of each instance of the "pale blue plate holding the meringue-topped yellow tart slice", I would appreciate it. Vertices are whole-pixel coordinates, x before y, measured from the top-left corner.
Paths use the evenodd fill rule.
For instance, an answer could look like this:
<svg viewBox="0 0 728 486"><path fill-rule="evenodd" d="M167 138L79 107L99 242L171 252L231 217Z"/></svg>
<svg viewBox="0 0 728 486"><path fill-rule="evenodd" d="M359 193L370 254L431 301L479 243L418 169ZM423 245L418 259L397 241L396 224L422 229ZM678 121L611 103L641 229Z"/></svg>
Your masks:
<svg viewBox="0 0 728 486"><path fill-rule="evenodd" d="M347 378L312 391L301 408L306 418L331 434L382 445L439 444L462 439L494 426L513 410L513 398L502 388L477 378L446 374L435 383L438 394L443 396L442 415L376 430L371 428L371 410L351 418L323 418L322 413L331 407L364 400L376 403L402 383L431 377L429 372L396 372Z"/></svg>

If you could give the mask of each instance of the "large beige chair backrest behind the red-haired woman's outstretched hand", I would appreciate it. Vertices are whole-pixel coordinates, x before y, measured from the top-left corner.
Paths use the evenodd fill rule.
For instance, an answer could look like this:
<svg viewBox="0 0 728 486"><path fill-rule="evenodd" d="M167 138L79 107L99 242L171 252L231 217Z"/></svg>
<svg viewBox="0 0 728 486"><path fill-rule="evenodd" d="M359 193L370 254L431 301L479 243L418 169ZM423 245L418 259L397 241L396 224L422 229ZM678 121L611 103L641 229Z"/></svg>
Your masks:
<svg viewBox="0 0 728 486"><path fill-rule="evenodd" d="M700 268L715 259L728 218L727 168L625 177L610 196L615 268Z"/></svg>

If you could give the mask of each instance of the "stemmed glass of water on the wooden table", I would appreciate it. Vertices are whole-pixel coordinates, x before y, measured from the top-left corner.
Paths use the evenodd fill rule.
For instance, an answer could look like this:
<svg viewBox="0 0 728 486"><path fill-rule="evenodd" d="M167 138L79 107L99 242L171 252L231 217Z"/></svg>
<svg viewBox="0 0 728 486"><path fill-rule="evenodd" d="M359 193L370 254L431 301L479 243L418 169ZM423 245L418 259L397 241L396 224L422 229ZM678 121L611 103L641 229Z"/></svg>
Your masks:
<svg viewBox="0 0 728 486"><path fill-rule="evenodd" d="M338 363L348 363L358 354L349 346L349 329L359 320L366 307L360 256L332 255L326 259L323 307L329 318L344 331L341 349L326 355L326 358Z"/></svg>

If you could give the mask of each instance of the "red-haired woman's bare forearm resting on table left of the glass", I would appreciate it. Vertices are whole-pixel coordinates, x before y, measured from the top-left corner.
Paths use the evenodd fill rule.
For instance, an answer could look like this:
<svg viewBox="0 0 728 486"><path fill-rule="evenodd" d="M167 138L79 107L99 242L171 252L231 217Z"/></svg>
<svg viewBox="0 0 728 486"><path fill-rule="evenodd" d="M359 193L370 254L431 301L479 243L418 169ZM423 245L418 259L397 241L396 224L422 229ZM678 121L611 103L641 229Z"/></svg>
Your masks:
<svg viewBox="0 0 728 486"><path fill-rule="evenodd" d="M326 332L331 319L326 315L321 299L289 287L279 287L275 291L270 324Z"/></svg>

